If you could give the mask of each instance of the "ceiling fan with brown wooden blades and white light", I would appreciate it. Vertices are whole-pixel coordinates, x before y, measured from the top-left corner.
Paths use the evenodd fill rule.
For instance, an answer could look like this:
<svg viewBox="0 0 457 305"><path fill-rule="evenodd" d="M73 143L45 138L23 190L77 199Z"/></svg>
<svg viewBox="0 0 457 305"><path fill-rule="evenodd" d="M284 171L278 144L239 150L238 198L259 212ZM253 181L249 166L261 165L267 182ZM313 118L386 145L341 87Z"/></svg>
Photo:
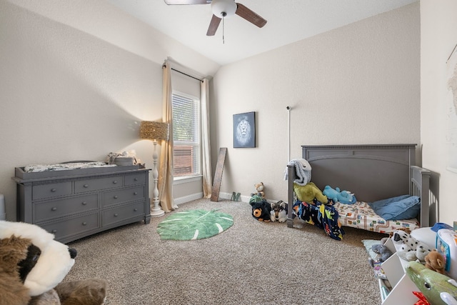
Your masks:
<svg viewBox="0 0 457 305"><path fill-rule="evenodd" d="M206 36L214 36L221 20L237 14L243 19L261 28L266 24L266 20L254 13L243 4L236 3L235 0L164 0L168 5L189 5L189 4L211 4L213 17L209 23Z"/></svg>

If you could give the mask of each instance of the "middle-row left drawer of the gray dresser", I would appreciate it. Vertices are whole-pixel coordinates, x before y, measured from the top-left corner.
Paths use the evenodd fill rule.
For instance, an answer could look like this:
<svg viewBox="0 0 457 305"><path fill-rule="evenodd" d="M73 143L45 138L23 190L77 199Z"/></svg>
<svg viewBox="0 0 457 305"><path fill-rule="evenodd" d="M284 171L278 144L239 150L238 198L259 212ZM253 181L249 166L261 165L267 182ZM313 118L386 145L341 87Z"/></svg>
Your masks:
<svg viewBox="0 0 457 305"><path fill-rule="evenodd" d="M97 194L71 197L67 199L46 201L34 204L34 223L74 213L99 209Z"/></svg>

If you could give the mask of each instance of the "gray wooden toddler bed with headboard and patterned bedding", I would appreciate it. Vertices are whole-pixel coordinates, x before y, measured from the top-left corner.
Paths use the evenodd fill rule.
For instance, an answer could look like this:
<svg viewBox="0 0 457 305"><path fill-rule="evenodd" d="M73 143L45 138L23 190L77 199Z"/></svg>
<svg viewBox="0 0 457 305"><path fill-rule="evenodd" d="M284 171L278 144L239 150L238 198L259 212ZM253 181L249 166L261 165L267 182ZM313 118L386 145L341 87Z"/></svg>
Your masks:
<svg viewBox="0 0 457 305"><path fill-rule="evenodd" d="M329 185L351 191L356 196L358 201L355 204L337 202L328 209L337 211L341 226L390 233L401 227L413 230L429 224L431 172L415 166L415 146L416 144L302 146L302 157L311 165L311 181L319 189L323 190ZM293 217L302 203L296 199L293 191L293 181L297 178L295 166L288 165L287 170L287 225L292 227ZM420 198L417 218L386 220L378 216L368 204L407 194ZM398 202L393 203L389 209L397 204ZM334 234L338 228L335 229Z"/></svg>

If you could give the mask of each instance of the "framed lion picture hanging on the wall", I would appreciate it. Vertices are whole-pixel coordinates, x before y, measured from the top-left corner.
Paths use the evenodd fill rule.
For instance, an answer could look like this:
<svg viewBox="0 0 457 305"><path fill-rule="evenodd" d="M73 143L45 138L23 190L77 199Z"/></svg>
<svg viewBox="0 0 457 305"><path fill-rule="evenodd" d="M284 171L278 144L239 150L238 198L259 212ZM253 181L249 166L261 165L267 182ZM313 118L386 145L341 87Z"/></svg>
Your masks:
<svg viewBox="0 0 457 305"><path fill-rule="evenodd" d="M233 147L256 147L256 113L233 114Z"/></svg>

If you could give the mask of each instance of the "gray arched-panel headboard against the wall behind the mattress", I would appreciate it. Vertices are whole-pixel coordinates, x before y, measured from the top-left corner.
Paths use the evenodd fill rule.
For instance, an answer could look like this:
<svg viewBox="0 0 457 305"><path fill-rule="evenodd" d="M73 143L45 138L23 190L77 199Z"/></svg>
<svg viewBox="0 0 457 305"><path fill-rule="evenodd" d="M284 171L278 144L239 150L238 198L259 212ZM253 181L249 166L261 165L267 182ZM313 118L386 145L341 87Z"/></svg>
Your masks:
<svg viewBox="0 0 457 305"><path fill-rule="evenodd" d="M416 144L314 145L302 147L311 165L311 181L351 191L358 201L372 202L410 194L410 166Z"/></svg>

